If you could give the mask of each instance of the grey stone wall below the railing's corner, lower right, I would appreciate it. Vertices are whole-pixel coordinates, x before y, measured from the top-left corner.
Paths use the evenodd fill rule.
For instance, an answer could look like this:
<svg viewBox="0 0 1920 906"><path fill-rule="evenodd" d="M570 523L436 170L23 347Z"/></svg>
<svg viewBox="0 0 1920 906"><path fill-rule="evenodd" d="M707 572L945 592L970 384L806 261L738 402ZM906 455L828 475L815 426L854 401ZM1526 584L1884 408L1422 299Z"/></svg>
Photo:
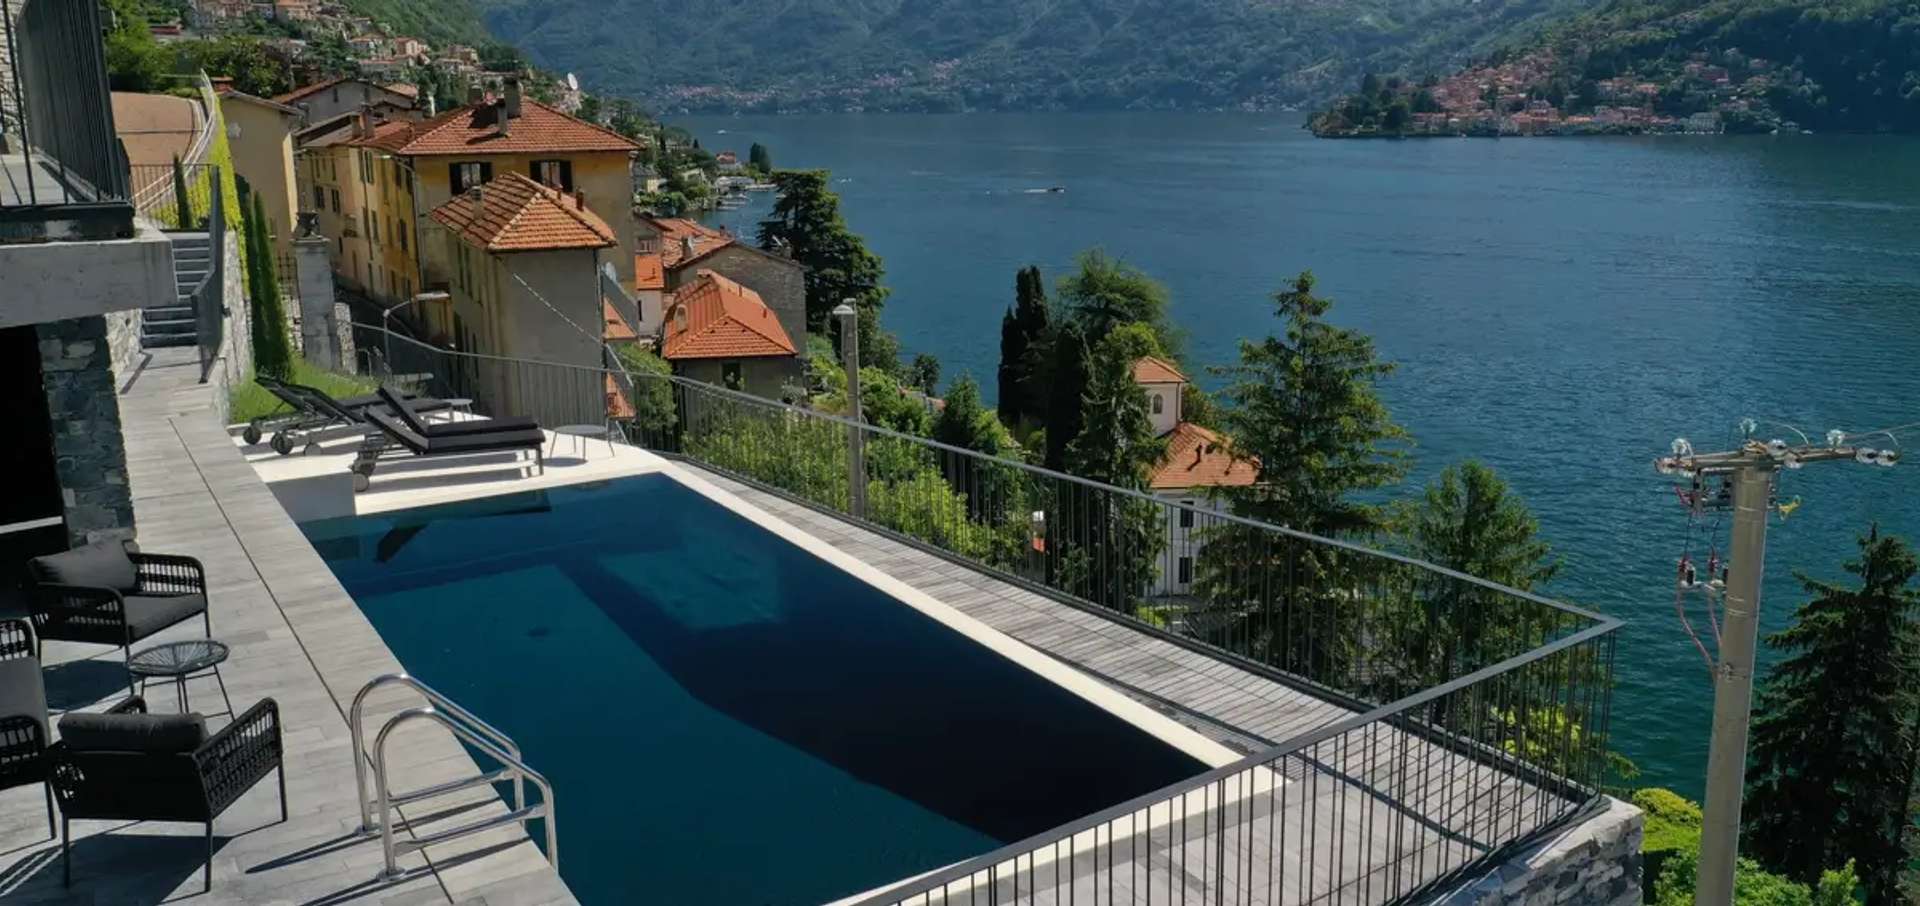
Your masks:
<svg viewBox="0 0 1920 906"><path fill-rule="evenodd" d="M1638 906L1642 814L1617 799L1434 896L1440 906Z"/></svg>

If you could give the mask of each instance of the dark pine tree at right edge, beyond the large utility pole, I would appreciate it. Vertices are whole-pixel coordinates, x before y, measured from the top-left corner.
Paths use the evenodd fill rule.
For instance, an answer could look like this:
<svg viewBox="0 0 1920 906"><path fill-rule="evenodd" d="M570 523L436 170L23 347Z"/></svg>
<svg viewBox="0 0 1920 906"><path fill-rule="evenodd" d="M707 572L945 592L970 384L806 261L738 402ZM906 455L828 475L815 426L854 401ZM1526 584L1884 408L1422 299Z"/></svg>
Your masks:
<svg viewBox="0 0 1920 906"><path fill-rule="evenodd" d="M1797 576L1811 599L1768 635L1747 760L1745 848L1795 881L1857 860L1866 902L1901 902L1920 714L1920 560L1878 526L1859 587Z"/></svg>

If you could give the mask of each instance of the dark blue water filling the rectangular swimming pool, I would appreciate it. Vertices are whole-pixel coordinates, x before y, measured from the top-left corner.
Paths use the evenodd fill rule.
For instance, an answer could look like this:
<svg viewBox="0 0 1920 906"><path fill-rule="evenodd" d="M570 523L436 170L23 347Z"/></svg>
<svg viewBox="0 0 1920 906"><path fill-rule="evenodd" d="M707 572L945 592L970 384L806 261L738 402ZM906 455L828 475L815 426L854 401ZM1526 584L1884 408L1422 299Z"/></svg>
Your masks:
<svg viewBox="0 0 1920 906"><path fill-rule="evenodd" d="M589 904L826 902L1204 770L664 476L303 530Z"/></svg>

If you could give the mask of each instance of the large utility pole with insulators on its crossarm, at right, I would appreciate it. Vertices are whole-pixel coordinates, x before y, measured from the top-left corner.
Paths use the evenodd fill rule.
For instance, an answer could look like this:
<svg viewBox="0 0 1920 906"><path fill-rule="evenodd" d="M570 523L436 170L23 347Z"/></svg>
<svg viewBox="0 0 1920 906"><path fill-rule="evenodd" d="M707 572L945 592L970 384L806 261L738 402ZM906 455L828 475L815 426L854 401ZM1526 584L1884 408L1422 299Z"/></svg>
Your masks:
<svg viewBox="0 0 1920 906"><path fill-rule="evenodd" d="M1751 438L1753 422L1743 424ZM1726 564L1726 618L1720 628L1718 664L1713 668L1713 739L1707 749L1707 806L1699 835L1699 875L1693 906L1732 906L1734 868L1740 856L1740 806L1747 783L1747 726L1753 718L1753 653L1761 635L1761 580L1766 574L1766 516L1774 509L1774 482L1782 468L1851 459L1891 466L1891 449L1853 447L1845 434L1830 432L1824 447L1747 440L1724 453L1693 453L1676 440L1672 455L1653 466L1661 474L1718 476L1728 484L1734 511L1734 543ZM1705 484L1695 493L1707 493ZM1692 503L1699 507L1695 499ZM1713 576L1709 576L1711 580Z"/></svg>

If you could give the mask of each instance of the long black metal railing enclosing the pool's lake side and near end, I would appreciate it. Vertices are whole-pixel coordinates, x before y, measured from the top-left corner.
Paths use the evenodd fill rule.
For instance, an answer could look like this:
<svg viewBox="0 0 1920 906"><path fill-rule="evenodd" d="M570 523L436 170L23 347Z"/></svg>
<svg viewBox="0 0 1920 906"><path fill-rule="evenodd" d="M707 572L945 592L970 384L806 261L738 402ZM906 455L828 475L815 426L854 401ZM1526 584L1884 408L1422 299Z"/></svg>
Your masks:
<svg viewBox="0 0 1920 906"><path fill-rule="evenodd" d="M1275 745L862 906L1392 902L1596 802L1619 622L1427 562L670 374L392 336L396 372L803 501L1325 703ZM1275 708L1279 710L1279 708Z"/></svg>

